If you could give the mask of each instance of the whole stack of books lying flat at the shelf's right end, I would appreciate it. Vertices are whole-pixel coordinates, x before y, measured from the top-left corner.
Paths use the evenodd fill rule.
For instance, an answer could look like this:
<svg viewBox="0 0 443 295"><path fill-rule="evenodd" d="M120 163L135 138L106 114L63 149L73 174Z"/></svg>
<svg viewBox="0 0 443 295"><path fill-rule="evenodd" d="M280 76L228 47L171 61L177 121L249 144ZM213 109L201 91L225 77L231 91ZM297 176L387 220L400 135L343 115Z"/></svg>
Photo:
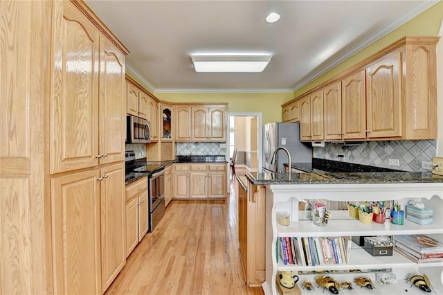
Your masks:
<svg viewBox="0 0 443 295"><path fill-rule="evenodd" d="M417 263L443 261L443 243L428 235L395 235L395 251Z"/></svg>

